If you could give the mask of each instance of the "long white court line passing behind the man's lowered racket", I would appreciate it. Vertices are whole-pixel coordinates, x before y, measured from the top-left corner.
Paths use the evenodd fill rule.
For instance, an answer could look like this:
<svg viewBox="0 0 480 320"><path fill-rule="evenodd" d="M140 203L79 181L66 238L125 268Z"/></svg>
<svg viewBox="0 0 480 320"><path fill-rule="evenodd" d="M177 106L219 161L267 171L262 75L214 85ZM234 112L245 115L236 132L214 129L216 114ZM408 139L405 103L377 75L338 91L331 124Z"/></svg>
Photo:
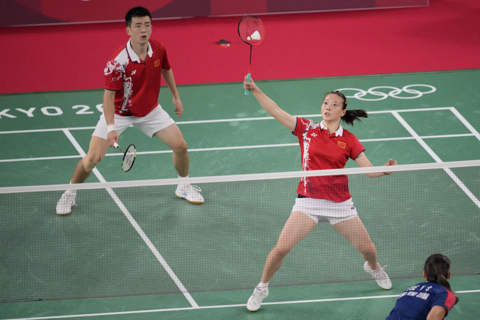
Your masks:
<svg viewBox="0 0 480 320"><path fill-rule="evenodd" d="M69 130L69 129L62 129ZM431 138L449 138L460 136L473 136L474 133L461 133L461 134L440 134L440 135L424 135L420 136L421 139ZM359 139L360 142L373 142L373 141L393 141L393 140L413 140L413 136L401 136L390 138L374 138L374 139ZM278 144L257 144L257 145L239 145L239 146L219 146L213 148L194 148L188 149L188 152L196 151L219 151L219 150L235 150L235 149L253 149L253 148L269 148L269 147L281 147L281 146L298 146L298 143L278 143ZM157 153L171 153L171 150L156 150L156 151L137 151L136 154L157 154ZM107 153L105 156L121 156L122 153ZM53 159L69 159L79 158L80 155L59 155L59 156L45 156L45 157L32 157L32 158L16 158L16 159L0 159L0 162L16 162L16 161L35 161L35 160L53 160Z"/></svg>

